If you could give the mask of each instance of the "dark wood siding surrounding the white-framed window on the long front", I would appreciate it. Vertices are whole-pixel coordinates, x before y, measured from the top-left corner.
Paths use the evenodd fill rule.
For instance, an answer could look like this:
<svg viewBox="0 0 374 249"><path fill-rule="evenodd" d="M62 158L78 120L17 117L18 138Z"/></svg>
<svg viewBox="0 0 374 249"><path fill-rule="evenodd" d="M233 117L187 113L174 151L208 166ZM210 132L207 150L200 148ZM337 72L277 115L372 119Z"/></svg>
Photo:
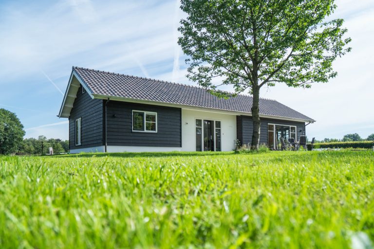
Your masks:
<svg viewBox="0 0 374 249"><path fill-rule="evenodd" d="M157 133L133 132L132 110L157 112ZM108 145L182 147L181 108L110 101L107 119Z"/></svg>

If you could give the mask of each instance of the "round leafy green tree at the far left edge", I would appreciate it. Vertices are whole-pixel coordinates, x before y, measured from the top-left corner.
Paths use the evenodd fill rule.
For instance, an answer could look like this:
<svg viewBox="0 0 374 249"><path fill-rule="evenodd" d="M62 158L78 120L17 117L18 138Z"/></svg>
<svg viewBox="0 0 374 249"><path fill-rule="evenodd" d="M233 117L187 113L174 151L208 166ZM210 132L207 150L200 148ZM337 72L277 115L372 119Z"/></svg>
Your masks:
<svg viewBox="0 0 374 249"><path fill-rule="evenodd" d="M0 108L0 154L17 152L25 131L13 112Z"/></svg>

